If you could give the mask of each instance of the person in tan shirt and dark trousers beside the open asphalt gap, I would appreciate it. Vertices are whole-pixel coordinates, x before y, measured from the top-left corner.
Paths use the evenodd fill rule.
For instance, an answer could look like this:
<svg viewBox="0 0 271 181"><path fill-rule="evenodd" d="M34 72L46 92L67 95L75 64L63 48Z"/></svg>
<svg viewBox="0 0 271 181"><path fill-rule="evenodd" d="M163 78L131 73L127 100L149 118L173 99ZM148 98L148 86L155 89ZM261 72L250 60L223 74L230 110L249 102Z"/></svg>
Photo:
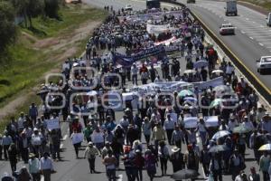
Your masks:
<svg viewBox="0 0 271 181"><path fill-rule="evenodd" d="M87 157L89 160L90 174L97 173L95 170L95 158L97 155L100 156L100 154L98 152L98 148L93 146L93 143L91 141L89 141L89 147L87 147L85 149L85 157L84 158Z"/></svg>

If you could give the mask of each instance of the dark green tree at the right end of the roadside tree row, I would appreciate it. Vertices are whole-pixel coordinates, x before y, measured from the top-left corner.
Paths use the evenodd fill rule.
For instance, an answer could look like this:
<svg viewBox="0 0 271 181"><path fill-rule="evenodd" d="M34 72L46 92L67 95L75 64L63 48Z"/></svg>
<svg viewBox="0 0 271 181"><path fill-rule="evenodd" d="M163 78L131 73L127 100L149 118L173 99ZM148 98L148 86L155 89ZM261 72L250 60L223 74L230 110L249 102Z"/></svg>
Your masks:
<svg viewBox="0 0 271 181"><path fill-rule="evenodd" d="M51 18L59 18L60 0L44 0L45 15Z"/></svg>

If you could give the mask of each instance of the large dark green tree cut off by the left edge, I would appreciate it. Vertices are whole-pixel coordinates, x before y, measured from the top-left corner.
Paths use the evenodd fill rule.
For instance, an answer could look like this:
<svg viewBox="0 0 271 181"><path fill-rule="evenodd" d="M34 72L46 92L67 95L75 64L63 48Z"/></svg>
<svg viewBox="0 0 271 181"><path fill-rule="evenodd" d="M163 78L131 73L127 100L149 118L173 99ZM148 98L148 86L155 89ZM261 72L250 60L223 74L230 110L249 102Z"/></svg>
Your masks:
<svg viewBox="0 0 271 181"><path fill-rule="evenodd" d="M14 7L7 1L0 1L0 53L4 52L16 38Z"/></svg>

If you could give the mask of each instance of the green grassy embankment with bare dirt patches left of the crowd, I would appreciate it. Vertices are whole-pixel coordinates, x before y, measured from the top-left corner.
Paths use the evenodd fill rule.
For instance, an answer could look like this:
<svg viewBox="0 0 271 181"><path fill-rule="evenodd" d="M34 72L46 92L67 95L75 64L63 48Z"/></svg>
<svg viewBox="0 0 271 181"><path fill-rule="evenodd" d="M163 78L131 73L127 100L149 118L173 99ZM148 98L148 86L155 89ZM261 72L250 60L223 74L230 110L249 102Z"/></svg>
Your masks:
<svg viewBox="0 0 271 181"><path fill-rule="evenodd" d="M44 81L46 72L58 71L61 62L83 52L91 30L107 17L88 5L67 5L60 14L61 21L38 17L33 19L33 29L19 27L18 41L10 46L7 61L0 67L0 108L22 95L27 98L1 119L0 132L10 116L27 112L31 102L39 104L33 88Z"/></svg>

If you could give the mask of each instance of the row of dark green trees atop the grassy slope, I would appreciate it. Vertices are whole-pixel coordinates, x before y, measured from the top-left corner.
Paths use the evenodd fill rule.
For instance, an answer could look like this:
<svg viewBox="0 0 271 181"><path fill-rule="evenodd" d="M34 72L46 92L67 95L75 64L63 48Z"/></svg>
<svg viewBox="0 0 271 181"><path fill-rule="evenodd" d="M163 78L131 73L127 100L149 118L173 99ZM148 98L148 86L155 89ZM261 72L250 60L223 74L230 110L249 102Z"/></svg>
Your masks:
<svg viewBox="0 0 271 181"><path fill-rule="evenodd" d="M61 3L63 0L0 0L0 54L16 39L16 16L23 16L26 28L33 27L32 19L39 15L59 19Z"/></svg>

